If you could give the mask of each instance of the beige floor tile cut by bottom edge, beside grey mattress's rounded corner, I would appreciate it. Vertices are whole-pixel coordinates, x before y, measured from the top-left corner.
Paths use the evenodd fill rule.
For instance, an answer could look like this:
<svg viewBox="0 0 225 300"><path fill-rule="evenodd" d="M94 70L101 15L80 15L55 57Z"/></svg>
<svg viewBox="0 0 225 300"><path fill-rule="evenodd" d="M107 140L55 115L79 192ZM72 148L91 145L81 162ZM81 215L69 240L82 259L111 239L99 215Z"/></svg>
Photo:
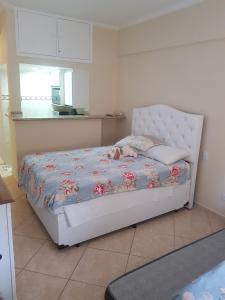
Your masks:
<svg viewBox="0 0 225 300"><path fill-rule="evenodd" d="M104 300L105 288L69 281L60 300Z"/></svg>

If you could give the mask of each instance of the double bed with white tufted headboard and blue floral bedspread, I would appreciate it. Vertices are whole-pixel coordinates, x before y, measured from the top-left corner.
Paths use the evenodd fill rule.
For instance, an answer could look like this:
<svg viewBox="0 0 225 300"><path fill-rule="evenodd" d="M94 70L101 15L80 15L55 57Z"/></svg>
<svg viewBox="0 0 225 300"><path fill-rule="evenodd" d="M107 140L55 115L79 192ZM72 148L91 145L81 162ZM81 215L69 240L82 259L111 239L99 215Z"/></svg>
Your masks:
<svg viewBox="0 0 225 300"><path fill-rule="evenodd" d="M49 184L49 187L51 188L54 188L54 160L57 159L56 156L59 155L61 157L61 161L64 159L66 160L67 168L63 170L63 166L61 164L62 170L60 170L61 173L63 173L63 171L65 172L64 186L62 187L62 185L60 185L57 187L59 190L64 189L64 192L71 195L71 197L68 197L69 200L66 203L64 202L65 199L63 199L62 195L59 195L60 193L57 196L54 194L54 189L52 190L52 193L45 195L42 199L34 197L34 193L31 193L30 190L33 189L36 194L40 194L42 193L43 186L40 183L40 178L39 184L34 184L34 176L27 176L26 179L23 178L23 180L21 180L21 174L23 174L25 168L24 162L20 171L20 184L25 187L28 201L47 229L53 241L59 247L79 244L94 237L137 224L141 221L156 217L172 210L177 210L184 205L188 208L192 208L202 126L203 116L184 113L166 105L153 105L149 107L135 108L133 110L133 135L153 135L169 146L188 149L189 156L185 159L186 161L178 162L175 165L176 168L179 168L183 174L183 177L181 177L185 177L185 180L175 182L175 184L172 185L168 184L168 180L166 180L168 176L165 176L165 181L157 182L154 188L147 188L145 181L145 184L143 184L143 180L146 180L146 178L142 178L143 174L140 175L138 169L136 169L135 172L135 174L138 173L138 178L130 172L130 170L125 170L121 173L123 178L122 184L114 183L112 188L110 182L102 185L100 181L99 184L95 185L94 189L90 188L88 195L78 197L77 195L81 194L80 189L76 186L76 184L74 184L74 182L71 184L67 178L71 175L71 170L68 171L68 156L75 160L74 163L76 166L76 172L78 175L80 174L80 177L78 176L77 180L80 180L79 183L82 186L83 182L87 181L87 174L85 173L83 174L82 181L82 168L89 163L90 157L97 158L95 161L97 165L109 163L106 157L107 148L104 147L74 150L70 152L64 151L54 154L39 153L38 155L34 154L33 156L26 156L24 158L24 162L28 165L28 167L26 167L28 175L29 172L34 174L36 168L39 169L37 166L38 161L41 163L45 160L48 161L47 171L49 171L49 173L46 173L45 168L44 180L43 177L40 176L40 178L42 178L42 181L44 182L47 178L50 178L50 175L52 175L52 181L51 184ZM83 155L82 161L79 163L76 161L77 151L81 151L82 154L80 155ZM79 159L80 157L78 160ZM59 159L57 161L59 161ZM117 162L117 164L122 165L124 165L124 163L128 165L129 163L135 165L136 162L134 162L133 159L126 159L126 161ZM141 169L144 169L148 164L156 164L156 162L149 163L146 161L142 161L141 163ZM138 166L136 167L138 168ZM171 171L171 168L173 167L174 166L170 166L163 172ZM98 168L96 168L97 166L88 170L89 173L92 172L92 177L95 177L96 179L96 176L97 178L104 176L104 174L101 174L102 170L99 172ZM105 166L104 171L106 169L113 170L113 168L114 165L110 167ZM118 165L116 168L119 168ZM123 168L123 166L121 168ZM35 176L37 179L37 175ZM113 176L113 174L111 174L111 176ZM142 180L139 180L139 178L142 178ZM24 182L24 180L26 182ZM139 182L139 189L135 188L134 181L135 184ZM123 192L124 188L126 192ZM88 189L88 186L85 186L83 190L88 191ZM113 193L110 192L112 190L114 191ZM72 198L72 196L74 198ZM91 201L86 201L90 199ZM48 204L47 208L46 203Z"/></svg>

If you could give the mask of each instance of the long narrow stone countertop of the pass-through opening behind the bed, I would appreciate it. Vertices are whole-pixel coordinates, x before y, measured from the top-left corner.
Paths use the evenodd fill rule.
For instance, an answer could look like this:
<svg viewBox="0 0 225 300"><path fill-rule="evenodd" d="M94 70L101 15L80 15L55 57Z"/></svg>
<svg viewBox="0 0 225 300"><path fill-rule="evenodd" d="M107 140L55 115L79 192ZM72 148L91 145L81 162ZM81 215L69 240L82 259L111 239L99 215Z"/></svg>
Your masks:
<svg viewBox="0 0 225 300"><path fill-rule="evenodd" d="M8 115L13 121L41 121L41 120L93 120L93 119L118 119L122 120L125 116L122 115L65 115L65 116L23 116L22 114L14 114Z"/></svg>

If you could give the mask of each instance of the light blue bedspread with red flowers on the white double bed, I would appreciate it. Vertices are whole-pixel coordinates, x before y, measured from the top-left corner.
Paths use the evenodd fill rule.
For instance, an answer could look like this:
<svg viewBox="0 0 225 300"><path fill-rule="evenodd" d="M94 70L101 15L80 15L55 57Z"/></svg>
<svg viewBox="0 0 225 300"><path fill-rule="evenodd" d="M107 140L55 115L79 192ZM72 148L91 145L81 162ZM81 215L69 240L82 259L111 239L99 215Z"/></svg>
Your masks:
<svg viewBox="0 0 225 300"><path fill-rule="evenodd" d="M112 193L185 183L188 164L166 166L138 155L112 160L111 147L27 155L19 184L38 207L57 209Z"/></svg>

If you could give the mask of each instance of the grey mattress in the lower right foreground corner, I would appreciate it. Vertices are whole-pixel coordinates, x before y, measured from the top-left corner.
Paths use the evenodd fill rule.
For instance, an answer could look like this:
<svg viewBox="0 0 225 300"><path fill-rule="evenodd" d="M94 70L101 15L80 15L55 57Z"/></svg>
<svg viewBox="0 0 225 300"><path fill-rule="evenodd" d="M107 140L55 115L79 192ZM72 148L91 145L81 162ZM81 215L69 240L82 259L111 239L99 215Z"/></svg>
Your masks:
<svg viewBox="0 0 225 300"><path fill-rule="evenodd" d="M203 273L225 260L225 229L178 249L159 259L133 270L109 284L106 300L171 300L171 299L223 299L220 297L194 297L194 286L188 285ZM217 269L218 270L218 269ZM213 270L215 272L215 270ZM218 281L223 274L223 284ZM219 266L217 286L224 287L224 265ZM209 276L207 274L206 276ZM205 276L205 277L206 277ZM212 277L209 281L212 288ZM201 278L202 280L202 278ZM198 281L196 281L198 282ZM203 281L201 281L203 282ZM206 280L204 280L206 283ZM222 284L220 286L220 284ZM188 287L184 288L186 285ZM215 286L215 285L214 285ZM199 287L199 285L198 285ZM181 292L179 290L183 289ZM195 286L196 288L196 286ZM207 286L202 285L204 292ZM185 295L184 293L190 293ZM195 290L196 291L196 290ZM223 292L223 290L219 290ZM214 290L215 293L215 290ZM198 294L197 294L198 295ZM214 294L215 295L215 294ZM217 290L218 295L218 290Z"/></svg>

